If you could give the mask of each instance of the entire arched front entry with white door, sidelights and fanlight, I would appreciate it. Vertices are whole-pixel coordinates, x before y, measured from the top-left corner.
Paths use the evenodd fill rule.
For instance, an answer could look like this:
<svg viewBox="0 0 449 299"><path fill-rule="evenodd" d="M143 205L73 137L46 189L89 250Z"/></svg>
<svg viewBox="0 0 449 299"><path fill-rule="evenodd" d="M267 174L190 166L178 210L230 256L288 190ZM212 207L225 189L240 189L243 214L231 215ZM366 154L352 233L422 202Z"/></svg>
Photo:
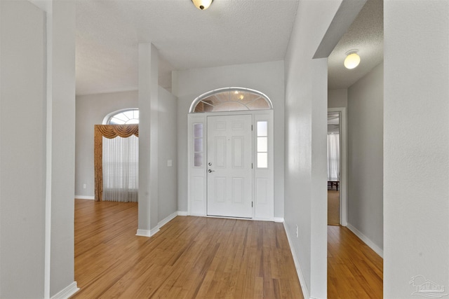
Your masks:
<svg viewBox="0 0 449 299"><path fill-rule="evenodd" d="M274 220L273 109L262 92L211 90L188 116L188 213Z"/></svg>

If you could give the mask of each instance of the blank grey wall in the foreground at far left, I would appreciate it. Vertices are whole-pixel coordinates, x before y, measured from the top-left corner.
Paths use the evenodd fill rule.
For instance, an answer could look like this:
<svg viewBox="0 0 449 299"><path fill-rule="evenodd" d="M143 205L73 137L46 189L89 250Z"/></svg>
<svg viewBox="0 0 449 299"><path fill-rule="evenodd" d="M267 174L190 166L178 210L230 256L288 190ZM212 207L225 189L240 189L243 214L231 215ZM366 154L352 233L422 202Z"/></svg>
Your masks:
<svg viewBox="0 0 449 299"><path fill-rule="evenodd" d="M0 1L0 298L43 298L44 13Z"/></svg>

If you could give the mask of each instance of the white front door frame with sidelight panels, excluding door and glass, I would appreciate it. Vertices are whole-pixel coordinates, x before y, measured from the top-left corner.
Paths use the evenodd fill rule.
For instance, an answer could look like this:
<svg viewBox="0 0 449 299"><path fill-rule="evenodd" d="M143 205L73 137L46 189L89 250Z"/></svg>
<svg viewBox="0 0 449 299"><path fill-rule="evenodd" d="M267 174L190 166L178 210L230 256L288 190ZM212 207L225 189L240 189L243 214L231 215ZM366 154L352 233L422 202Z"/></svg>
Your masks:
<svg viewBox="0 0 449 299"><path fill-rule="evenodd" d="M234 116L250 114L253 119L253 217L246 218L260 221L274 221L274 111L269 110L245 110L226 111L210 113L189 113L187 132L187 215L208 216L207 215L207 117L208 116ZM256 157L256 128L258 121L268 122L268 167L257 168ZM201 125L202 130L202 165L194 166L194 125ZM232 217L225 217L232 218Z"/></svg>

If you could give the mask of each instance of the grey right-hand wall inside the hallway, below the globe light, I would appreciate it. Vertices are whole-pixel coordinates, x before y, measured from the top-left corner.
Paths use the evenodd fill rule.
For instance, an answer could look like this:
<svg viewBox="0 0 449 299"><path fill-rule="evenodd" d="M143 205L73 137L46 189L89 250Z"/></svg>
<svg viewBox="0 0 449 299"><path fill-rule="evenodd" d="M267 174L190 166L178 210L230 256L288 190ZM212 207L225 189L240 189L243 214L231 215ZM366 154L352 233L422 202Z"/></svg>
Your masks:
<svg viewBox="0 0 449 299"><path fill-rule="evenodd" d="M347 91L348 226L373 242L378 253L383 229L383 63ZM380 249L380 250L379 250Z"/></svg>

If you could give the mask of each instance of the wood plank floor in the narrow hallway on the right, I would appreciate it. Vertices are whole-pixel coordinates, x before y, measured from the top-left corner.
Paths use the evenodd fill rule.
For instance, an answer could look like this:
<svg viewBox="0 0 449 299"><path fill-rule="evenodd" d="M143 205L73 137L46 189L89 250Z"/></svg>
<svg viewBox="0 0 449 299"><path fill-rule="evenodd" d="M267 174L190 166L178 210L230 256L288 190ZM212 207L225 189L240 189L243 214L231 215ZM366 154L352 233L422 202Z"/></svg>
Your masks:
<svg viewBox="0 0 449 299"><path fill-rule="evenodd" d="M382 298L383 259L342 226L328 226L328 298Z"/></svg>

